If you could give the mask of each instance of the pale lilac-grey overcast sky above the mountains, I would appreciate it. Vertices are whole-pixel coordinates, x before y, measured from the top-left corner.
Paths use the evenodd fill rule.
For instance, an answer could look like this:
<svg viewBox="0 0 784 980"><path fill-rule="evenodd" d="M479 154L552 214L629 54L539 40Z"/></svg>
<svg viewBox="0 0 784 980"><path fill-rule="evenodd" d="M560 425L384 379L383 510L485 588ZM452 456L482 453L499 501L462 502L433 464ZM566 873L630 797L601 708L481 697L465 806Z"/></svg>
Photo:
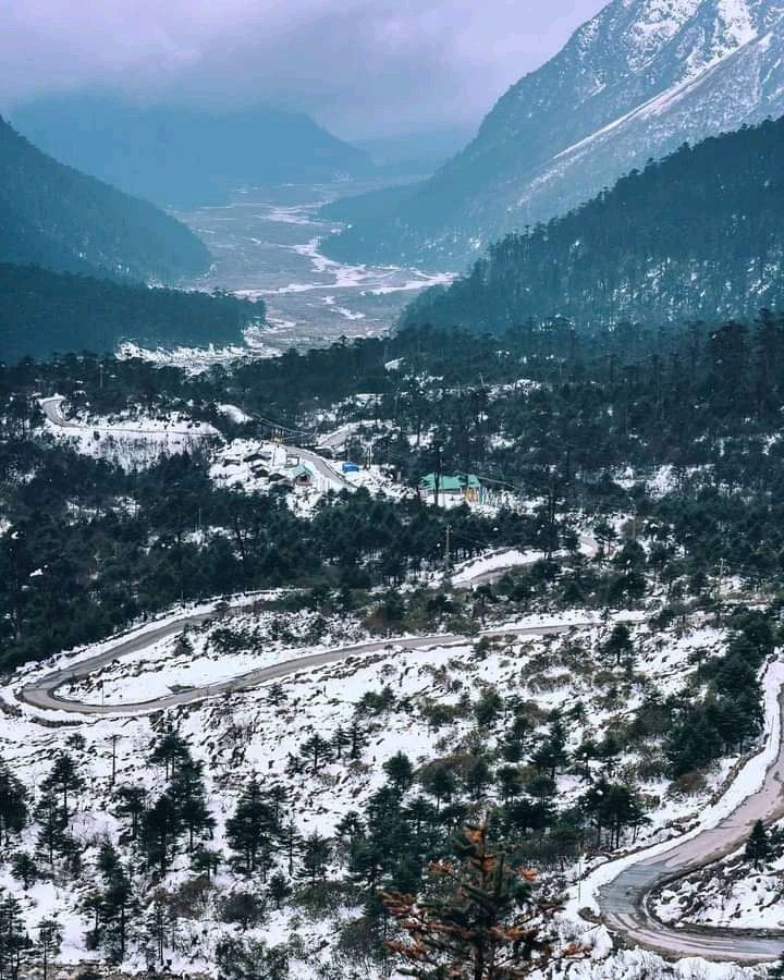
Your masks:
<svg viewBox="0 0 784 980"><path fill-rule="evenodd" d="M603 0L23 0L0 8L0 106L120 87L253 99L357 137L474 124Z"/></svg>

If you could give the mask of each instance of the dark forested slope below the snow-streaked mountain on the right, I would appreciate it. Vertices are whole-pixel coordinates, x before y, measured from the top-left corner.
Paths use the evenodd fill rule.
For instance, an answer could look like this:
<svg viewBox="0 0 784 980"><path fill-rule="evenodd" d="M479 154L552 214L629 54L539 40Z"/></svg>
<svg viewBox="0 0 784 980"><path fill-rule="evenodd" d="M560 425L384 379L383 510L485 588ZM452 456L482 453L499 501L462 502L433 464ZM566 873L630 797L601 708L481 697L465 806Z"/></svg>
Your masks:
<svg viewBox="0 0 784 980"><path fill-rule="evenodd" d="M500 331L752 316L784 304L784 120L682 147L564 218L492 245L405 323Z"/></svg>

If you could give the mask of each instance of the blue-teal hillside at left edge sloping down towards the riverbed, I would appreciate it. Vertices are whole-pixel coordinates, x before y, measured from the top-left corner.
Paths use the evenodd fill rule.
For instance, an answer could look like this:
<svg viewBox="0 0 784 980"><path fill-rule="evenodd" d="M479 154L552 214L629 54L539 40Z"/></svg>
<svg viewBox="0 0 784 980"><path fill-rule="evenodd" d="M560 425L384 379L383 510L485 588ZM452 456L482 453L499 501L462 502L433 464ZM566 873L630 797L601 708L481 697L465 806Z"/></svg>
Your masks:
<svg viewBox="0 0 784 980"><path fill-rule="evenodd" d="M0 261L174 282L210 257L184 224L59 163L0 118Z"/></svg>

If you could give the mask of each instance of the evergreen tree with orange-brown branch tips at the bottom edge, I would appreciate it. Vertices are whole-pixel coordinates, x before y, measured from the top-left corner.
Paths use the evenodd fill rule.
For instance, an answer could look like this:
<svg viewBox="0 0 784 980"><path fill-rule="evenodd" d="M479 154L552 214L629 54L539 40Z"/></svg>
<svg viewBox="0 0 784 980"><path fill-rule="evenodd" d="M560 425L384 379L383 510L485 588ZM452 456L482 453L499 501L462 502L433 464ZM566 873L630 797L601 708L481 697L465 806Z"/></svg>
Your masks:
<svg viewBox="0 0 784 980"><path fill-rule="evenodd" d="M404 934L387 943L403 971L419 980L515 980L541 969L554 958L555 906L534 897L534 873L492 850L483 825L467 826L454 846L456 862L430 866L442 883L432 897L384 895Z"/></svg>

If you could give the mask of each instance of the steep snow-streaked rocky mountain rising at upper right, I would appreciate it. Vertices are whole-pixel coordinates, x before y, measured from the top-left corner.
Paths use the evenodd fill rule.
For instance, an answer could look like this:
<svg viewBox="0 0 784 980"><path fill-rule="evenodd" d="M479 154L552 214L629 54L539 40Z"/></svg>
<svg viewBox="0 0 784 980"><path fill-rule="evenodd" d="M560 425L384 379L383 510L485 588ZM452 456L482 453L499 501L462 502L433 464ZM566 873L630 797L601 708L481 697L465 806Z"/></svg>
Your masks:
<svg viewBox="0 0 784 980"><path fill-rule="evenodd" d="M340 257L460 267L685 140L784 113L784 0L612 0Z"/></svg>

